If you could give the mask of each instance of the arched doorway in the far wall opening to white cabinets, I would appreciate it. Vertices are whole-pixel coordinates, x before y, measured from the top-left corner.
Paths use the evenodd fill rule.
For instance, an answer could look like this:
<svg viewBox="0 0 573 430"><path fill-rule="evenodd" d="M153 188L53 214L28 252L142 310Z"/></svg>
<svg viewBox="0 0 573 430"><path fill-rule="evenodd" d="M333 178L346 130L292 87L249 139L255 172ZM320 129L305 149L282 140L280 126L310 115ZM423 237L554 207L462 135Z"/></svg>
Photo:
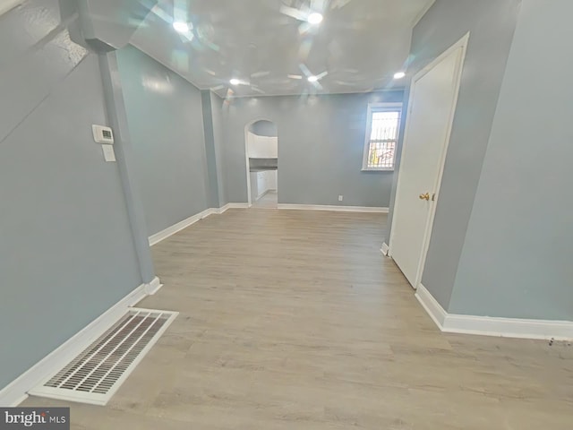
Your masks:
<svg viewBox="0 0 573 430"><path fill-rule="evenodd" d="M278 130L267 119L245 126L249 206L276 209L278 205Z"/></svg>

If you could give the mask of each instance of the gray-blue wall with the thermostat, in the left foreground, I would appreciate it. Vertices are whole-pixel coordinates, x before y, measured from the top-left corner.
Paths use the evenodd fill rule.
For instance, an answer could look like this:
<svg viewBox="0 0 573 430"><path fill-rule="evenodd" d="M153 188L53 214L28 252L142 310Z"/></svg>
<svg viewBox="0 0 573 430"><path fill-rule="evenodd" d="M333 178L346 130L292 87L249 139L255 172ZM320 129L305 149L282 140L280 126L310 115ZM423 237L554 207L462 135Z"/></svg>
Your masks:
<svg viewBox="0 0 573 430"><path fill-rule="evenodd" d="M0 17L0 388L141 284L98 56L56 0ZM30 29L30 30L25 30Z"/></svg>

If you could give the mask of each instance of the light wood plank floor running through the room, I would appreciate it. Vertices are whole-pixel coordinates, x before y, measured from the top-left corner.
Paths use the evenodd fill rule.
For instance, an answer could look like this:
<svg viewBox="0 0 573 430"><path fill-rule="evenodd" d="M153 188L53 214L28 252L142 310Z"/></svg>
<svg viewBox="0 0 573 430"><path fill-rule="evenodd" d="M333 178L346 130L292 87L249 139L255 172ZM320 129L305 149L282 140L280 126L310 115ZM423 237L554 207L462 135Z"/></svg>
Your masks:
<svg viewBox="0 0 573 430"><path fill-rule="evenodd" d="M571 347L440 333L381 255L385 222L230 210L154 246L165 287L140 306L181 314L72 428L570 430Z"/></svg>

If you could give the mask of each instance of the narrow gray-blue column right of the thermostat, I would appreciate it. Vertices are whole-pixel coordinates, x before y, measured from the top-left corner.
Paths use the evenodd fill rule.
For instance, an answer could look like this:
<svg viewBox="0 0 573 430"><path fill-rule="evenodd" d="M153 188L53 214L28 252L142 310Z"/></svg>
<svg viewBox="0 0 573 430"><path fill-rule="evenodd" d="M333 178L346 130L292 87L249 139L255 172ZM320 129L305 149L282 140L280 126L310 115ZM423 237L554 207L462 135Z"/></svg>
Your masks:
<svg viewBox="0 0 573 430"><path fill-rule="evenodd" d="M135 252L140 263L141 279L145 283L150 283L155 277L155 270L145 224L145 212L139 196L134 168L130 163L131 141L115 51L99 54L99 68L103 82L107 121L114 130L115 158L124 187Z"/></svg>

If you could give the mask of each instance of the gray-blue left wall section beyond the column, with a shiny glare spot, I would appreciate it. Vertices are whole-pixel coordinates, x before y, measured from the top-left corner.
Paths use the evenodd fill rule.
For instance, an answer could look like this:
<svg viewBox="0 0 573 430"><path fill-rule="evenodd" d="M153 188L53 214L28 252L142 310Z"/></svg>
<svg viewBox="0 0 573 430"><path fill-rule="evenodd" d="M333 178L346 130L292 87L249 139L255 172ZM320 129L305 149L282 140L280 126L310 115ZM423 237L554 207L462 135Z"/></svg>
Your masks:
<svg viewBox="0 0 573 430"><path fill-rule="evenodd" d="M117 51L149 235L210 207L201 91L127 46Z"/></svg>

